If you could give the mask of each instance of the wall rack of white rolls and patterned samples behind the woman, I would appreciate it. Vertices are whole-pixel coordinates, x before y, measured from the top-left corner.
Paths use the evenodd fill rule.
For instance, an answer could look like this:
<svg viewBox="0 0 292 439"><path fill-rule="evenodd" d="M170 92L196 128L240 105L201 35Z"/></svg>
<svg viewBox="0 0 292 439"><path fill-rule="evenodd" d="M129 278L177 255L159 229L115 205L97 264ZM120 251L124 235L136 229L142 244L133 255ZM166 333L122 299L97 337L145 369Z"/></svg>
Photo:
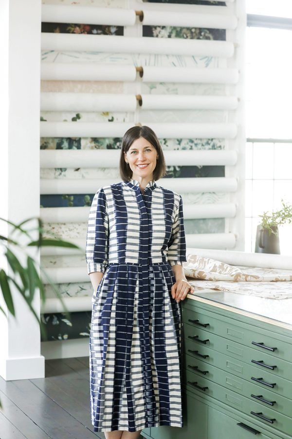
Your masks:
<svg viewBox="0 0 292 439"><path fill-rule="evenodd" d="M107 8L99 7L98 2L89 6L85 1L70 5L50 4L47 0L42 5L43 24L56 23L56 28L58 23L123 26L123 35L42 32L40 133L43 144L49 146L41 147L40 151L41 197L53 199L64 194L92 197L101 185L119 181L119 148L91 147L90 141L90 146L86 146L81 140L79 150L69 151L51 147L52 140L97 139L105 144L109 138L121 139L130 126L148 125L161 140L171 140L174 145L179 145L178 140L182 139L197 142L195 147L163 144L167 166L173 169L175 179L164 178L158 182L183 196L187 246L243 250L244 212L239 202L244 191L245 146L243 4L125 1L119 3L124 7L116 8L116 3L111 3ZM154 31L164 27L191 26L224 30L224 40L194 37L158 40L154 36ZM150 28L151 37L146 36L146 29ZM70 120L73 113L81 113L81 119ZM224 173L219 177L216 173L212 176L198 173L192 177L181 173L183 167L199 170L222 167ZM101 172L96 174L93 168ZM83 175L75 178L68 171L59 177L60 169L82 169ZM74 229L70 236L70 230L78 228L78 224L84 227L89 204L71 207L41 204L45 224L59 228L64 239L84 249L82 227L79 235ZM216 225L212 231L204 225L218 219L223 221L218 230ZM52 279L60 285L84 283L91 290L80 253L48 247L42 250L41 257L48 262ZM70 262L63 263L66 258L73 258L73 267ZM68 301L72 300L73 304L74 299L79 300L77 309L90 309L89 303L84 306L88 297L70 297ZM52 300L55 299L50 300L50 306L47 304L43 312L54 312ZM55 302L57 310L60 311Z"/></svg>

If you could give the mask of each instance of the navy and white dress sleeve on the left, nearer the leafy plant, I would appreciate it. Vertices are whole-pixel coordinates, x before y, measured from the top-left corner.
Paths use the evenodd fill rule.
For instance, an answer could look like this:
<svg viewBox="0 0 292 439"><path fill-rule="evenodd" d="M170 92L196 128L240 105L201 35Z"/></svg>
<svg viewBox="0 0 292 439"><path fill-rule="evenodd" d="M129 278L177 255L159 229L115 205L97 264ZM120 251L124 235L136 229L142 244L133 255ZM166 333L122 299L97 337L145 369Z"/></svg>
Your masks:
<svg viewBox="0 0 292 439"><path fill-rule="evenodd" d="M88 274L106 271L109 260L109 216L106 194L102 187L98 189L91 203L85 255Z"/></svg>

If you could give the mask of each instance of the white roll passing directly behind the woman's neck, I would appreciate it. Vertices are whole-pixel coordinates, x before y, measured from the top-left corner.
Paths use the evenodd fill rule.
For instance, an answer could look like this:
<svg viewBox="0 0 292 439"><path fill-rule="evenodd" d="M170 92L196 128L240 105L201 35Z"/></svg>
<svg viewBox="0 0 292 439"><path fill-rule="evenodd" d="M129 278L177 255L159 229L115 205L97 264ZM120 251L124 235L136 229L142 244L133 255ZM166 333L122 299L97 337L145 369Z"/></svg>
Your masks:
<svg viewBox="0 0 292 439"><path fill-rule="evenodd" d="M61 194L95 194L100 186L118 183L112 179L41 179L40 193L42 195L61 195ZM185 179L161 179L158 184L183 193L201 193L201 192L235 192L237 190L237 179L230 177L200 177L200 178L185 178Z"/></svg>

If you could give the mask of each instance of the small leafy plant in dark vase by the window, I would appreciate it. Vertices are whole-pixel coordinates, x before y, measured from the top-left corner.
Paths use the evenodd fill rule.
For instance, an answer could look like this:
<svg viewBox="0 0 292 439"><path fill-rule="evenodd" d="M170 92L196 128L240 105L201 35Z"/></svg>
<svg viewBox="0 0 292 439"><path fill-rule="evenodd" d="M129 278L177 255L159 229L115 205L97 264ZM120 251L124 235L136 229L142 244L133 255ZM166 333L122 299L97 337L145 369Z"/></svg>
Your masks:
<svg viewBox="0 0 292 439"><path fill-rule="evenodd" d="M280 209L259 215L261 221L256 228L256 253L280 254L278 226L292 222L292 205L283 199L281 202Z"/></svg>

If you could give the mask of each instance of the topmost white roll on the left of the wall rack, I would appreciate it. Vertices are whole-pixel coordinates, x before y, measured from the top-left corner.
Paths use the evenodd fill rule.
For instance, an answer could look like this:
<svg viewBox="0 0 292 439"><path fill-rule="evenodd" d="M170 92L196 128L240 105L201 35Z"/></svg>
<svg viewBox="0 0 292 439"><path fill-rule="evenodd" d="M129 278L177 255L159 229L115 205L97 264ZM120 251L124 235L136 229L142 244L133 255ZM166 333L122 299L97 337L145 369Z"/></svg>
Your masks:
<svg viewBox="0 0 292 439"><path fill-rule="evenodd" d="M86 23L133 26L136 21L136 13L133 9L42 4L41 20L42 22L47 23Z"/></svg>

